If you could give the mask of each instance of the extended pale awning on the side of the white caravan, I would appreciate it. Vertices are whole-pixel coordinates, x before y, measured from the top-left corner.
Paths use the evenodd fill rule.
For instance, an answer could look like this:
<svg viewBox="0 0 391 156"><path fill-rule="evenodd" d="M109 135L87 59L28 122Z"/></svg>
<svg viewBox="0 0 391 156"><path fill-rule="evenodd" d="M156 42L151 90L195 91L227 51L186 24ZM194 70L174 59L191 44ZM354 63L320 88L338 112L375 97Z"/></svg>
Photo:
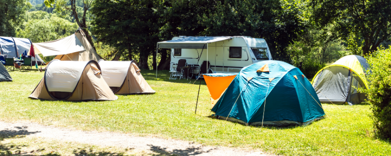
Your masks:
<svg viewBox="0 0 391 156"><path fill-rule="evenodd" d="M181 37L179 39L157 42L157 44L158 48L165 49L207 49L206 43L226 39L232 39L232 37Z"/></svg>

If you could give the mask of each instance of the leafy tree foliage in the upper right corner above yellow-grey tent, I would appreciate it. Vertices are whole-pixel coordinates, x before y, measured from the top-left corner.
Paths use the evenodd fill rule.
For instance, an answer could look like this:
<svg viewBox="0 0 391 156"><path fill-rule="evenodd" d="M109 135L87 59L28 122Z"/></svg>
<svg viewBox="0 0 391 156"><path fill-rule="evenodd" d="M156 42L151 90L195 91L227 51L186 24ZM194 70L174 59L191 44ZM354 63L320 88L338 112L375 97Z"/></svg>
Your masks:
<svg viewBox="0 0 391 156"><path fill-rule="evenodd" d="M363 55L390 39L391 0L311 0L310 5L317 26L332 24L334 35L361 46Z"/></svg>

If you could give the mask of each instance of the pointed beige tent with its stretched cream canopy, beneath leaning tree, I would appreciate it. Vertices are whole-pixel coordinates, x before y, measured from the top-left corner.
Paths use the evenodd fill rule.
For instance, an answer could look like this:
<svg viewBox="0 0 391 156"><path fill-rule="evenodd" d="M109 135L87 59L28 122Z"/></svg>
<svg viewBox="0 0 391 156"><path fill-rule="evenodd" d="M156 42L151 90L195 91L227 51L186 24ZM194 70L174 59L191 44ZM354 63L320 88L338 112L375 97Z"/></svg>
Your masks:
<svg viewBox="0 0 391 156"><path fill-rule="evenodd" d="M35 54L42 54L45 57L56 56L54 59L59 60L98 61L100 59L80 28L71 36L48 42L33 43L33 46Z"/></svg>

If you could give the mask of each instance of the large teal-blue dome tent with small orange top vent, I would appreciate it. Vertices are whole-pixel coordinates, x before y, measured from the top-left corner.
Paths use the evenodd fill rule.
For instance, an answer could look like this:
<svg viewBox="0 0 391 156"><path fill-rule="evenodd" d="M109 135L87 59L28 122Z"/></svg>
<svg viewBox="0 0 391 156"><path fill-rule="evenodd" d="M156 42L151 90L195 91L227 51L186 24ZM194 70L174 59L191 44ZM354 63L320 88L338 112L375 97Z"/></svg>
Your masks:
<svg viewBox="0 0 391 156"><path fill-rule="evenodd" d="M213 77L215 74L205 75ZM244 67L212 111L217 118L246 125L307 125L325 115L315 90L303 73L276 60Z"/></svg>

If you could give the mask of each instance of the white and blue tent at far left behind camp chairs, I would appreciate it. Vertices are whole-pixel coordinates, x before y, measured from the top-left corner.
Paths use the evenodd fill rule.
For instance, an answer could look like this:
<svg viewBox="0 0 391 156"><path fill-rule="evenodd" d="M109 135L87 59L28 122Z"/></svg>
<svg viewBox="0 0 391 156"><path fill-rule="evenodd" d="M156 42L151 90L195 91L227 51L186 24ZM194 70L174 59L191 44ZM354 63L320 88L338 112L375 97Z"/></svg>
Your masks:
<svg viewBox="0 0 391 156"><path fill-rule="evenodd" d="M0 37L0 53L7 55L7 58L19 58L25 51L29 52L32 42L30 39ZM27 53L30 55L30 53ZM32 64L35 65L35 58L37 58L38 65L45 64L40 56L34 55L32 57Z"/></svg>

